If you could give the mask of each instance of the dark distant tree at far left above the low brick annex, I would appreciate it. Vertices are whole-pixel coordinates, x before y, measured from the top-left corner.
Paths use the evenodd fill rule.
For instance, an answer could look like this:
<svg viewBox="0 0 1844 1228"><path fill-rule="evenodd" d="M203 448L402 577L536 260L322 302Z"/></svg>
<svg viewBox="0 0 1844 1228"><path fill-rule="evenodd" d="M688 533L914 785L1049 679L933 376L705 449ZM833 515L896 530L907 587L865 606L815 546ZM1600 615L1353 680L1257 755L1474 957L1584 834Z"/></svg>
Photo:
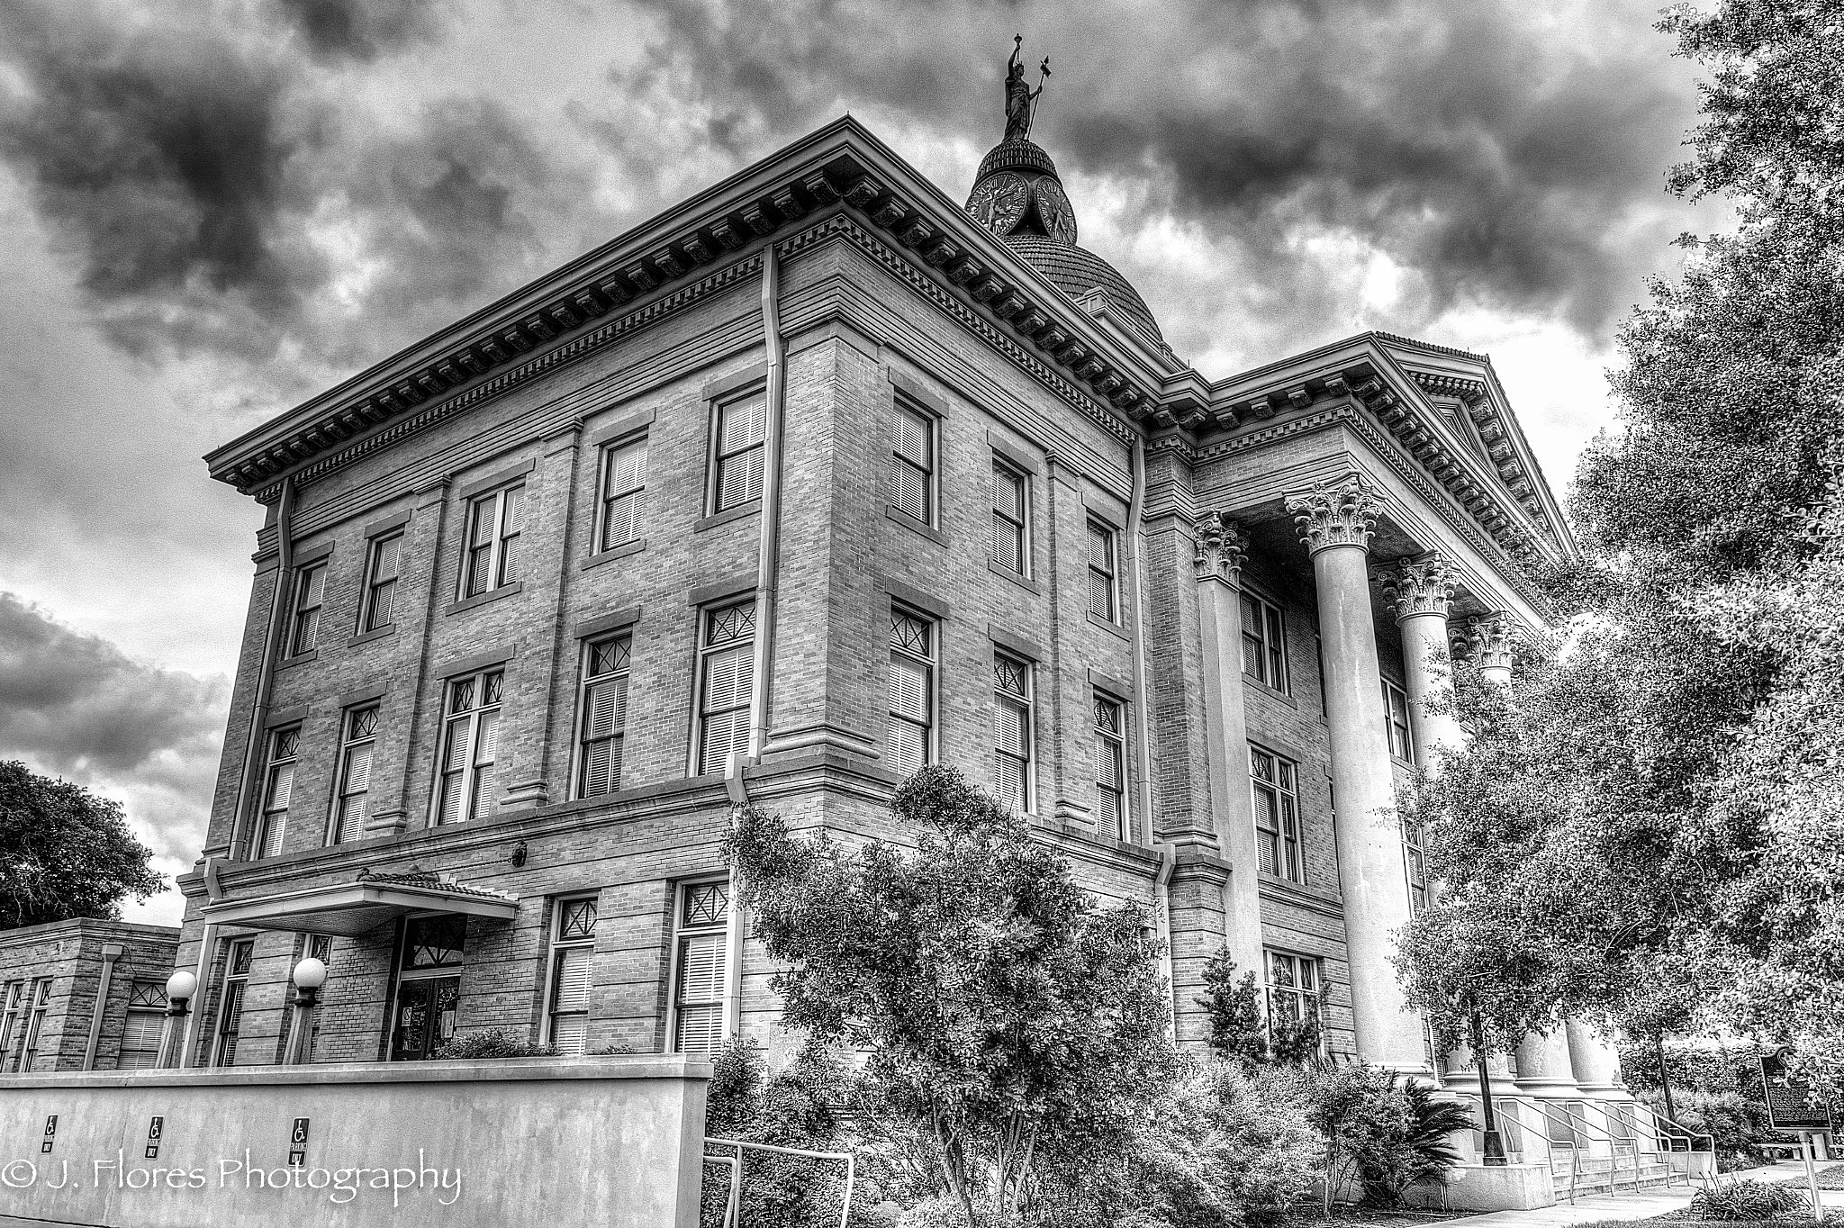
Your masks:
<svg viewBox="0 0 1844 1228"><path fill-rule="evenodd" d="M166 885L122 806L24 763L0 762L0 929L116 918Z"/></svg>

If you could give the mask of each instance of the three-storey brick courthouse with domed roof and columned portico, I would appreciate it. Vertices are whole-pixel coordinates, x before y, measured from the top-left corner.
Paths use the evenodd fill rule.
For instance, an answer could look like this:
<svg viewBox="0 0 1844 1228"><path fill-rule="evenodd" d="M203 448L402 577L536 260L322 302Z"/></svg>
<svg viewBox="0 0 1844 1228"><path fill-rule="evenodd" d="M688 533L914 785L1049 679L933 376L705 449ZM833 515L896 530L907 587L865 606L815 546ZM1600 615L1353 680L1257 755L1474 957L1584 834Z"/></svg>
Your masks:
<svg viewBox="0 0 1844 1228"><path fill-rule="evenodd" d="M963 205L839 120L210 457L267 511L184 1062L513 1027L771 1051L719 841L843 841L946 763L1169 939L1200 1042L1228 944L1271 1010L1435 1073L1389 955L1390 815L1575 549L1479 354L1361 334L1208 380L1079 245L1022 131ZM1516 1066L1617 1082L1584 1029Z"/></svg>

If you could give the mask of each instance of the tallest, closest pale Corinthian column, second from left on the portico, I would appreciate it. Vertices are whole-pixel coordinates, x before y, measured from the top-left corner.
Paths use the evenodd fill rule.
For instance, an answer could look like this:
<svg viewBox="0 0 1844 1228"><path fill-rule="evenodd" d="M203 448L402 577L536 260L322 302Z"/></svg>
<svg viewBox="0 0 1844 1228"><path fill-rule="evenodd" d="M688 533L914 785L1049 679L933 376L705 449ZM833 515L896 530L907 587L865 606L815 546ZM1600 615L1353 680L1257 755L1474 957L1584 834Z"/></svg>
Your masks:
<svg viewBox="0 0 1844 1228"><path fill-rule="evenodd" d="M1352 968L1357 1055L1405 1073L1431 1073L1425 1029L1396 983L1392 933L1409 924L1409 883L1394 815L1396 782L1383 723L1383 675L1370 618L1370 535L1376 490L1357 474L1287 496L1313 553L1318 634L1331 732L1339 889Z"/></svg>

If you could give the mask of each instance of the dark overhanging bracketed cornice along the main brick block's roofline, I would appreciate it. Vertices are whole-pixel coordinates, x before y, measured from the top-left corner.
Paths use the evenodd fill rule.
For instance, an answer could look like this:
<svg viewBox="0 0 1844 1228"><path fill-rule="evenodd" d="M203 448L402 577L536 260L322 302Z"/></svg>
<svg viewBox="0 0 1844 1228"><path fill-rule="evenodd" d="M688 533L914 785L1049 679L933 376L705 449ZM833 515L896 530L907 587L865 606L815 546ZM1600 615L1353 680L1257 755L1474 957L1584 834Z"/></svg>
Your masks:
<svg viewBox="0 0 1844 1228"><path fill-rule="evenodd" d="M822 227L786 240L826 210ZM345 463L358 455L354 446L402 439L374 443L385 424L420 430L581 358L760 269L765 243L793 254L837 218L857 225L854 238L889 236L874 253L880 260L1084 413L1099 409L1116 437L1130 439L1130 422L1151 413L1149 389L1167 376L1169 354L1093 319L846 118L214 450L212 478L273 498L282 478L312 481L330 457ZM723 260L732 264L708 271ZM610 313L620 315L596 325Z"/></svg>

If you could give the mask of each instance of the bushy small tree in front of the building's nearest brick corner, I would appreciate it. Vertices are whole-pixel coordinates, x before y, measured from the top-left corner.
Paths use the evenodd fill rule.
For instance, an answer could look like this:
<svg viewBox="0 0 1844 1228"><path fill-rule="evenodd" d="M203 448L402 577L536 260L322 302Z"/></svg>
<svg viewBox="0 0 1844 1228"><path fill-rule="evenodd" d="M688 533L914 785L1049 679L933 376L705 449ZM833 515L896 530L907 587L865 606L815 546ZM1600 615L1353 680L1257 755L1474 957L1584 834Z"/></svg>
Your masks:
<svg viewBox="0 0 1844 1228"><path fill-rule="evenodd" d="M1145 909L1097 903L1027 821L944 767L891 809L913 852L795 839L754 808L725 850L784 964L784 1025L867 1055L975 1224L975 1198L1018 1213L1049 1156L1132 1134L1176 1075L1169 1005Z"/></svg>

